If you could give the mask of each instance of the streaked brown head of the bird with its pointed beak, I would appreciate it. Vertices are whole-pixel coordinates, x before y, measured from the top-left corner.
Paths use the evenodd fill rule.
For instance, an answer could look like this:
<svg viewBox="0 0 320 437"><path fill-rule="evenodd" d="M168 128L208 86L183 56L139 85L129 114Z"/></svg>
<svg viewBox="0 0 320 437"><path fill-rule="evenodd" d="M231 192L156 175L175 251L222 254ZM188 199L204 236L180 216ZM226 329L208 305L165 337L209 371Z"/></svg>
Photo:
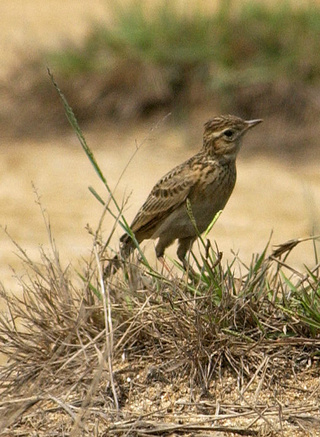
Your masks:
<svg viewBox="0 0 320 437"><path fill-rule="evenodd" d="M213 156L235 159L243 135L262 120L242 120L234 115L222 115L204 125L203 147Z"/></svg>

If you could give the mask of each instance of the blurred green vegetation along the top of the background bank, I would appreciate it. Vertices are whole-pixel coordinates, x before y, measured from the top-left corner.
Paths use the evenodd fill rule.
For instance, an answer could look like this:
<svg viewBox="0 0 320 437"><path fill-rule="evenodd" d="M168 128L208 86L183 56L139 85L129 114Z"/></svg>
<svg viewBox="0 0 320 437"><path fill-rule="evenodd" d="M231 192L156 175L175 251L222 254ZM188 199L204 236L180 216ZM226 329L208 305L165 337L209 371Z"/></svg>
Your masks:
<svg viewBox="0 0 320 437"><path fill-rule="evenodd" d="M272 8L263 2L218 2L215 13L201 3L136 0L109 6L111 24L96 24L83 46L50 54L49 64L71 77L110 74L152 65L169 87L186 80L207 87L243 85L279 78L315 82L320 77L320 9Z"/></svg>

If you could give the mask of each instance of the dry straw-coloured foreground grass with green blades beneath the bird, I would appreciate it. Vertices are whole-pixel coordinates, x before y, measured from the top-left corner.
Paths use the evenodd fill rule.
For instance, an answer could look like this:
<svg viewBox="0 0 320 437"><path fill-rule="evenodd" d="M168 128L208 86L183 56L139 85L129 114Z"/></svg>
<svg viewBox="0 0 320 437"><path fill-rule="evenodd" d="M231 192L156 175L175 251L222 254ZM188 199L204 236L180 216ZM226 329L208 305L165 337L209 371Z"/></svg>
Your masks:
<svg viewBox="0 0 320 437"><path fill-rule="evenodd" d="M183 415L191 422L199 420L197 410L217 407L204 401L211 397L223 399L223 410L235 418L245 408L250 421L236 429L257 435L261 420L279 414L277 400L269 394L266 403L265 392L277 387L282 393L293 375L299 380L318 372L318 265L292 272L265 250L237 275L239 261L224 266L209 248L200 258L192 255L191 264L202 266L198 273L161 273L134 256L104 282L105 248L98 238L78 275L61 266L54 246L52 255L42 252L40 265L22 249L20 256L28 272L22 298L1 292L8 310L0 316L0 351L8 363L0 368L0 429L10 435L40 426L38 435L92 435L94 429L119 435L128 423L142 435L146 427L168 426L168 417L175 428L179 405L158 401L152 389L164 396L189 392ZM232 401L217 388L230 380ZM308 404L315 418L317 405ZM305 397L299 408L306 408ZM221 430L231 432L225 414L216 416Z"/></svg>

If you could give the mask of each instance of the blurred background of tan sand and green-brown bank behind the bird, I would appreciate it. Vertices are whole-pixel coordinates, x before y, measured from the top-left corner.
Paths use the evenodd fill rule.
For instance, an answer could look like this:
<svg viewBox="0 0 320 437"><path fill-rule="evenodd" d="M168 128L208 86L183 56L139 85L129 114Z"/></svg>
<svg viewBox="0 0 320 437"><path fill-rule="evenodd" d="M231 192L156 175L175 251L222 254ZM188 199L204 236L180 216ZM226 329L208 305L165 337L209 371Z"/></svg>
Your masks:
<svg viewBox="0 0 320 437"><path fill-rule="evenodd" d="M87 187L107 197L47 67L117 199L130 196L129 221L154 183L201 147L204 122L231 113L264 123L245 138L236 188L210 234L225 259L233 251L248 261L271 232L272 244L320 233L320 1L1 0L0 15L6 288L17 287L9 266L21 265L4 229L31 257L48 246L35 190L75 267L91 250L86 225L96 229L102 214ZM112 224L104 220L105 236ZM291 256L314 263L310 244Z"/></svg>

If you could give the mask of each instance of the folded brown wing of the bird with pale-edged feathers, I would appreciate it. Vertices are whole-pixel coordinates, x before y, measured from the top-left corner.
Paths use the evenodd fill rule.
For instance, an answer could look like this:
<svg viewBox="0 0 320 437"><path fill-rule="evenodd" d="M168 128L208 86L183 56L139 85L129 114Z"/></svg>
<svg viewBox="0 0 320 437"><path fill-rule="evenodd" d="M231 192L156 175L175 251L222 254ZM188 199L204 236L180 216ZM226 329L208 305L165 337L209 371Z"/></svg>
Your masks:
<svg viewBox="0 0 320 437"><path fill-rule="evenodd" d="M190 171L191 167L192 161L189 160L157 182L131 224L135 234L155 230L157 225L186 200L198 180L197 172Z"/></svg>

